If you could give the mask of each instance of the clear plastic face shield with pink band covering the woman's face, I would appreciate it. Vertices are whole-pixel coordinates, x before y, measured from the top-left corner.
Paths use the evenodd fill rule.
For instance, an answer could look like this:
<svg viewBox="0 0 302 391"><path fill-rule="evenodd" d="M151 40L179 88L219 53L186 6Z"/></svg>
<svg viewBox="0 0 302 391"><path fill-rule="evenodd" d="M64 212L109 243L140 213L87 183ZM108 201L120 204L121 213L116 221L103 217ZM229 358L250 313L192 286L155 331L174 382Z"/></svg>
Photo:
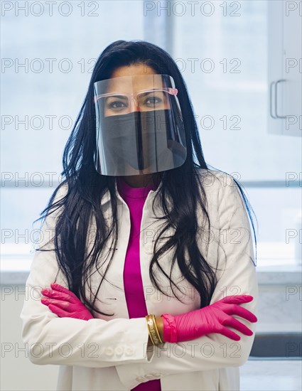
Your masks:
<svg viewBox="0 0 302 391"><path fill-rule="evenodd" d="M184 164L187 148L177 92L169 75L94 83L94 161L101 175L141 175Z"/></svg>

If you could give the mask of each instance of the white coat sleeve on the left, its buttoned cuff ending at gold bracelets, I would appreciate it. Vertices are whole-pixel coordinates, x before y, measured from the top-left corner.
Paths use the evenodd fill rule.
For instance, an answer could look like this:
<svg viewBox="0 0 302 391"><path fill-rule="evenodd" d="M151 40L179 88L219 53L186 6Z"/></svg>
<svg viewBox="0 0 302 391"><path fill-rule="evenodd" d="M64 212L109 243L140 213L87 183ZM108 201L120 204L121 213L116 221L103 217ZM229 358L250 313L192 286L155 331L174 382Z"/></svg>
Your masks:
<svg viewBox="0 0 302 391"><path fill-rule="evenodd" d="M55 200L62 194L59 191ZM55 215L49 215L42 226L44 249L54 232ZM52 247L53 248L53 247ZM41 303L41 289L50 288L59 271L54 251L36 251L26 280L26 298L21 310L22 338L28 358L38 365L80 365L104 368L127 363L148 362L146 353L149 333L145 318L115 318L112 321L93 318L89 321L60 318ZM58 284L68 288L59 272Z"/></svg>

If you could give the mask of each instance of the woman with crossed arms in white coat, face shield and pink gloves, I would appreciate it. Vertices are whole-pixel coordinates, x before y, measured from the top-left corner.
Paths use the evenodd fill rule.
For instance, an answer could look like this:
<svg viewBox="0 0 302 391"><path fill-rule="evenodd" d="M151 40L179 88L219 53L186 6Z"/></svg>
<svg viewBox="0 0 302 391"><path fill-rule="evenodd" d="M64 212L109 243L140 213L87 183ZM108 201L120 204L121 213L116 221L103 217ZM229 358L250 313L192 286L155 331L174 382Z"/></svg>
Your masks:
<svg viewBox="0 0 302 391"><path fill-rule="evenodd" d="M239 390L258 299L246 200L207 167L168 53L102 52L63 166L21 312L31 362L60 365L57 390Z"/></svg>

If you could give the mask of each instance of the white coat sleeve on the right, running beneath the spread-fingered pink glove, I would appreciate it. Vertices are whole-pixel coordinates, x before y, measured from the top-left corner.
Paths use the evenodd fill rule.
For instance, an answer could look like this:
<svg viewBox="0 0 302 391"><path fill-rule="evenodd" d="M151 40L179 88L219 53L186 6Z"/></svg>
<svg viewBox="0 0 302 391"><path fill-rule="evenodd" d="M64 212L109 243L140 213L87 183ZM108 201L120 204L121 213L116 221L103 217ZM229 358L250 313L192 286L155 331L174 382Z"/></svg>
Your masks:
<svg viewBox="0 0 302 391"><path fill-rule="evenodd" d="M225 296L249 294L254 299L240 306L257 316L259 291L253 262L252 230L249 226L247 210L235 186L234 180L227 174L227 183L220 181L218 187L220 245L217 257L218 267L222 272L210 304ZM166 342L162 346L152 346L153 355L149 363L117 365L121 382L131 390L141 382L159 379L166 375L243 365L252 350L256 323L237 315L232 316L251 329L253 335L245 336L227 326L241 337L239 341L233 341L220 333L210 333L191 341Z"/></svg>

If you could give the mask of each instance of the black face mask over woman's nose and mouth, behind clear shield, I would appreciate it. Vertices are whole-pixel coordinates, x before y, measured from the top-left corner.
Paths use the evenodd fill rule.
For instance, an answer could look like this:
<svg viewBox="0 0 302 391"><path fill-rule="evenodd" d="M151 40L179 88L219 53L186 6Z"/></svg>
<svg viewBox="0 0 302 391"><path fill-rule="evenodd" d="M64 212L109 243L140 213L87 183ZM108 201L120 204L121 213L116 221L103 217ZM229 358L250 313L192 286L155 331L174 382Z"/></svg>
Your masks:
<svg viewBox="0 0 302 391"><path fill-rule="evenodd" d="M102 118L102 153L112 164L128 163L136 170L151 169L151 172L173 168L173 146L186 150L175 141L171 109L131 112ZM183 163L183 162L182 162Z"/></svg>

